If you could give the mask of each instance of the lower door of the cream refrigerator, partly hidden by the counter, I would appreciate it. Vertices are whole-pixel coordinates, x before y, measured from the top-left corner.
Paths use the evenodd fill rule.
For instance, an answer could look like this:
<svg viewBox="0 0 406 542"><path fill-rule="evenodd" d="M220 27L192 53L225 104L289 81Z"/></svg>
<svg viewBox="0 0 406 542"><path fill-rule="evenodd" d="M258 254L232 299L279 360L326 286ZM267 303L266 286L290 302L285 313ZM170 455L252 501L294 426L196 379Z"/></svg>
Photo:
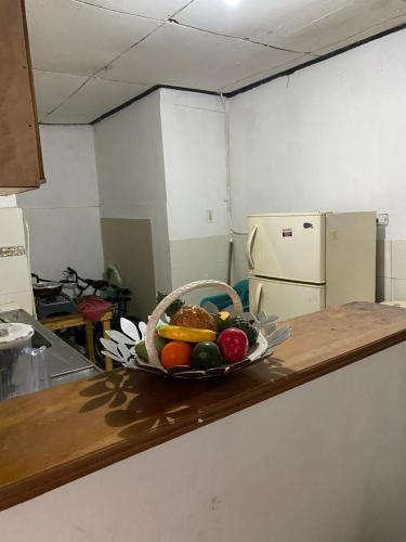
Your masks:
<svg viewBox="0 0 406 542"><path fill-rule="evenodd" d="M250 311L277 314L280 320L316 312L325 308L325 286L249 279Z"/></svg>

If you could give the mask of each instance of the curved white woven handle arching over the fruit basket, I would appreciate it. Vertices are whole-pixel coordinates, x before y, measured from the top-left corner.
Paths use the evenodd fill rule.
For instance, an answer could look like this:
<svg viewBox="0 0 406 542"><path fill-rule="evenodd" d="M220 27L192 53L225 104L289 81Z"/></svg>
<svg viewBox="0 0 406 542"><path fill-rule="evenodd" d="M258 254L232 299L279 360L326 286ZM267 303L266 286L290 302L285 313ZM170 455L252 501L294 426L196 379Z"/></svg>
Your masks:
<svg viewBox="0 0 406 542"><path fill-rule="evenodd" d="M224 282L221 281L196 281L192 282L191 284L186 284L185 286L181 286L178 289L174 289L171 294L169 294L167 297L165 297L160 304L155 308L154 312L150 314L149 320L148 320L148 325L146 326L146 334L145 334L145 346L146 346L146 351L148 353L148 360L149 364L154 365L159 369L163 369L162 364L160 363L159 356L157 352L157 349L155 347L155 334L156 334L156 327L157 324L163 314L163 312L169 308L169 306L179 299L180 297L184 296L185 294L189 294L191 292L194 292L195 289L200 289L200 288L218 288L225 294L227 294L234 305L234 310L237 315L243 313L243 304L241 300L236 293L234 288L228 286L228 284L225 284ZM163 369L163 371L166 371Z"/></svg>

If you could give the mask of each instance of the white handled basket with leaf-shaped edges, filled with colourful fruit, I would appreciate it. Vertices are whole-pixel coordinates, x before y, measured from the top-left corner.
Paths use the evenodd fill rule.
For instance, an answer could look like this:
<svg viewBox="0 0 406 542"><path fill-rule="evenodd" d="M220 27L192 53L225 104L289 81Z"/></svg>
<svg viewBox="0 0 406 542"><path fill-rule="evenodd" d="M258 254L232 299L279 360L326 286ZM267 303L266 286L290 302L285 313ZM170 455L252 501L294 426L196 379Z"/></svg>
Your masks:
<svg viewBox="0 0 406 542"><path fill-rule="evenodd" d="M210 313L181 301L186 294L213 287L230 296L230 312ZM109 338L101 341L104 353L123 366L172 378L200 379L230 374L269 357L291 333L289 326L278 328L276 320L264 312L258 318L243 312L238 294L231 286L207 280L165 296L147 324L141 322L136 327L122 318L121 332L110 330Z"/></svg>

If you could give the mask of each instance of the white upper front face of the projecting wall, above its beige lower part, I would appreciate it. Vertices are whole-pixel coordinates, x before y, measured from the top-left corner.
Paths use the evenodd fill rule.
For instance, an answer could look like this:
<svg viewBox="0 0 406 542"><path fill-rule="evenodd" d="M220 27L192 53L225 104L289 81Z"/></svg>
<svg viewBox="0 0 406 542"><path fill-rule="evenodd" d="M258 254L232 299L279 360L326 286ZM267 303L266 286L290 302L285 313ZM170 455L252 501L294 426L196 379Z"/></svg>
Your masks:
<svg viewBox="0 0 406 542"><path fill-rule="evenodd" d="M224 235L228 230L221 99L167 89L160 93L169 237Z"/></svg>

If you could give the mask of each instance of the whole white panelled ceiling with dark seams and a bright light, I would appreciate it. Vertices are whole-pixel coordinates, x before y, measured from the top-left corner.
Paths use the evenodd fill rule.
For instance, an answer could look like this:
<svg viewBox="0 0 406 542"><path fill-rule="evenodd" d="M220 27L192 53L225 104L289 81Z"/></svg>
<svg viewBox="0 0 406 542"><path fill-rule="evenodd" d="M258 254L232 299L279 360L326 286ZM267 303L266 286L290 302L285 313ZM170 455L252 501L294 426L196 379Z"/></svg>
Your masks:
<svg viewBox="0 0 406 542"><path fill-rule="evenodd" d="M155 85L230 92L314 57L303 52L323 55L406 22L406 0L26 0L26 5L40 119L64 124L92 121ZM179 10L179 25L155 21ZM80 88L92 75L97 78Z"/></svg>

